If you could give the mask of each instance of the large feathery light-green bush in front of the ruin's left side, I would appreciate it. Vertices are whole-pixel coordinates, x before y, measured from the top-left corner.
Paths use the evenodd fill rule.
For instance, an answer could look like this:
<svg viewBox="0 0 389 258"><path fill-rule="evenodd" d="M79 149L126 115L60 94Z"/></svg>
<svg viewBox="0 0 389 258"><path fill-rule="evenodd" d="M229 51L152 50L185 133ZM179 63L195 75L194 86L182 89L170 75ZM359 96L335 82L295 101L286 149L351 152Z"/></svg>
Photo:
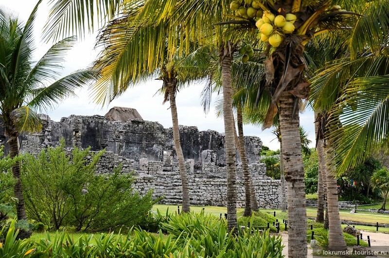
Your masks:
<svg viewBox="0 0 389 258"><path fill-rule="evenodd" d="M104 151L74 148L42 150L26 154L21 179L29 218L59 229L105 231L131 227L140 222L155 203L152 191L133 193L131 174L115 168L110 175L96 175L96 163Z"/></svg>

